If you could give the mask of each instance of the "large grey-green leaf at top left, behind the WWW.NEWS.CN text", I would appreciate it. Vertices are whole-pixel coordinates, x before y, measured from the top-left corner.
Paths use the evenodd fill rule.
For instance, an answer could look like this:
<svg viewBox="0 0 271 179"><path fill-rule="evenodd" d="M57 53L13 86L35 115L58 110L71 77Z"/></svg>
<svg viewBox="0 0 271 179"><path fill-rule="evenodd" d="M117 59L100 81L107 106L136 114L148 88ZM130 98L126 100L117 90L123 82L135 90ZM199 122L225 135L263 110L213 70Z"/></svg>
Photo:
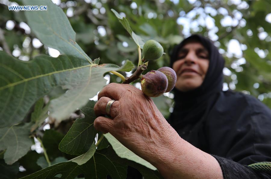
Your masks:
<svg viewBox="0 0 271 179"><path fill-rule="evenodd" d="M25 11L27 23L39 40L61 54L71 55L92 63L92 60L75 42L75 32L60 7L49 0L24 0L24 5L46 5L47 11Z"/></svg>

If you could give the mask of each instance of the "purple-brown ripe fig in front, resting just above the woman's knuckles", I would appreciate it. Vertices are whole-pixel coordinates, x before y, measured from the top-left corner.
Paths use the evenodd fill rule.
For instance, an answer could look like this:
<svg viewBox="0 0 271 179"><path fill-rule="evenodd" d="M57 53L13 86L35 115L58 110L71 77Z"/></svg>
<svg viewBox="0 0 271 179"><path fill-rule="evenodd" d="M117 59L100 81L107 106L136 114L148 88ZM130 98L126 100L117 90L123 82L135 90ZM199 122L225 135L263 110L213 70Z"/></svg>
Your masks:
<svg viewBox="0 0 271 179"><path fill-rule="evenodd" d="M141 79L141 89L149 97L158 97L167 90L167 77L160 71L151 70Z"/></svg>

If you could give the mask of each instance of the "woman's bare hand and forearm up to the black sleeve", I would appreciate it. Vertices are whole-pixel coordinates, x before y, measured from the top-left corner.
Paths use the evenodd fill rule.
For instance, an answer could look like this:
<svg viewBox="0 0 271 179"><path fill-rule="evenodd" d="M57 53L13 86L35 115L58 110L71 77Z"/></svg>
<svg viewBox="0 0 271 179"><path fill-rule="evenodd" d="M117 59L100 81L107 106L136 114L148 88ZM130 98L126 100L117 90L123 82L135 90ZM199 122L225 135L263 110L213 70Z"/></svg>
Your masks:
<svg viewBox="0 0 271 179"><path fill-rule="evenodd" d="M112 119L104 117L109 100ZM129 84L110 83L98 94L94 127L154 165L164 178L223 178L216 159L183 140L150 97Z"/></svg>

